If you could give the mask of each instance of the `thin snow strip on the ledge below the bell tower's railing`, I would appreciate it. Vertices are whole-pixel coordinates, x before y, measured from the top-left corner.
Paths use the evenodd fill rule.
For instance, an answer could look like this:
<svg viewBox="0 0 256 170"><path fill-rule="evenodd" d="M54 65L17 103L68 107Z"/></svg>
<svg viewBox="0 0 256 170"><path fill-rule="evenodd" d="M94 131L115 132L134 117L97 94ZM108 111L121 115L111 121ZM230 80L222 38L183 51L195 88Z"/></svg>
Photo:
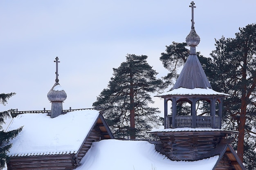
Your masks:
<svg viewBox="0 0 256 170"><path fill-rule="evenodd" d="M150 132L184 132L184 131L229 131L229 132L235 132L238 131L235 130L224 130L224 129L215 129L215 128L166 128L166 129L155 129L151 130Z"/></svg>

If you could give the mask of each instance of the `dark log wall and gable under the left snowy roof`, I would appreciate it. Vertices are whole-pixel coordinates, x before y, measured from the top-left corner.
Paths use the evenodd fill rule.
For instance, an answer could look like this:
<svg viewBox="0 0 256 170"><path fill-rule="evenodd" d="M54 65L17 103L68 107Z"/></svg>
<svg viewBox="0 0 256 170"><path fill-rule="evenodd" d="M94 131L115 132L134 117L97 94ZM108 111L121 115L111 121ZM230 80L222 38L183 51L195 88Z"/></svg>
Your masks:
<svg viewBox="0 0 256 170"><path fill-rule="evenodd" d="M76 153L61 155L38 155L10 157L8 170L72 170L79 163L92 146L92 142L102 139L114 139L105 119L100 114L85 137L83 145Z"/></svg>

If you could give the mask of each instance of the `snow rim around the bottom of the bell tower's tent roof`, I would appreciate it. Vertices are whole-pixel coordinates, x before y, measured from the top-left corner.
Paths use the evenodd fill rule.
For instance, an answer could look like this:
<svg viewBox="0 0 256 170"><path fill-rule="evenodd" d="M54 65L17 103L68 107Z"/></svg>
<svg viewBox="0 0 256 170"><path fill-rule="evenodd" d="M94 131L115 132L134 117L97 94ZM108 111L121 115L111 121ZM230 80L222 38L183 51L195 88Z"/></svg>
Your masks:
<svg viewBox="0 0 256 170"><path fill-rule="evenodd" d="M220 93L217 91L214 91L211 88L177 88L173 89L172 91L168 91L165 93L160 93L157 96L166 96L166 95L225 95L225 96L230 96L229 94L226 93Z"/></svg>

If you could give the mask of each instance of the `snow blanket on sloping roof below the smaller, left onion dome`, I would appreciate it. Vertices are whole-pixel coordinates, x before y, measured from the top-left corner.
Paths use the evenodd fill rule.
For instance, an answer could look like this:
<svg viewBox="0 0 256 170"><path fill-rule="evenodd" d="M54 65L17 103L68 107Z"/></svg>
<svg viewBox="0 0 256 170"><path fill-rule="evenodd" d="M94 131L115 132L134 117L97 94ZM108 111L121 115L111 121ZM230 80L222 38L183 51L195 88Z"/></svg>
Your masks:
<svg viewBox="0 0 256 170"><path fill-rule="evenodd" d="M47 113L25 113L13 118L7 131L23 126L13 139L9 156L76 153L99 116L97 110L80 110L51 118Z"/></svg>

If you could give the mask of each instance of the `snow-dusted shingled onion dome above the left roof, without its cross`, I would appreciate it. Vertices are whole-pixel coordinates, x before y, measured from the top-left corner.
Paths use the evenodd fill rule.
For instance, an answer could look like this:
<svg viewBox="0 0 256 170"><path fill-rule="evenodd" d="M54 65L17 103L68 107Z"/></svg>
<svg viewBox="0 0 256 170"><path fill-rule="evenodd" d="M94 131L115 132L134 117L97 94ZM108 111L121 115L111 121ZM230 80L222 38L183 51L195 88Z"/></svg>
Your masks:
<svg viewBox="0 0 256 170"><path fill-rule="evenodd" d="M63 102L67 98L67 93L61 85L56 82L47 94L47 98L51 102Z"/></svg>

